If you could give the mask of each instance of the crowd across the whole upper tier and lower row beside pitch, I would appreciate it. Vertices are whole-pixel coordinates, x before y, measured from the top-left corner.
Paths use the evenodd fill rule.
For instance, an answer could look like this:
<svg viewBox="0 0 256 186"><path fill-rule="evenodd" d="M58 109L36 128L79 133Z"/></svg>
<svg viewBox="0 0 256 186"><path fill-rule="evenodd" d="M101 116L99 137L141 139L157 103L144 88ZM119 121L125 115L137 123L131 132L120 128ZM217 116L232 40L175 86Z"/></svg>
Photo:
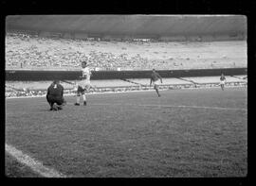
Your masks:
<svg viewBox="0 0 256 186"><path fill-rule="evenodd" d="M242 43L242 44L241 44ZM79 70L87 60L92 70L151 70L246 67L244 42L171 43L157 40L87 40L42 37L35 33L6 33L6 69ZM233 47L234 44L237 44ZM235 50L234 50L235 49ZM225 54L225 55L223 55ZM210 57L210 58L209 58ZM240 58L241 57L241 58ZM193 86L193 85L187 85ZM206 85L212 86L212 85ZM180 85L162 86L177 89ZM124 92L147 87L105 88L103 92ZM65 93L75 93L65 90ZM46 90L6 91L6 97L42 96Z"/></svg>

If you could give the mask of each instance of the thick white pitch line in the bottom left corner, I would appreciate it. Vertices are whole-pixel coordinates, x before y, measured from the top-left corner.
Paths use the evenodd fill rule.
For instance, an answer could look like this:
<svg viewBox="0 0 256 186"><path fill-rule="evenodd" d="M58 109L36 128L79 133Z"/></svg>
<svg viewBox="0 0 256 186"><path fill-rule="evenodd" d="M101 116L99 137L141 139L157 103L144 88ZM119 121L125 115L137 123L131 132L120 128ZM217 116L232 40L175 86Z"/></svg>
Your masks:
<svg viewBox="0 0 256 186"><path fill-rule="evenodd" d="M42 162L36 161L29 157L27 154L24 154L22 151L16 149L15 147L6 144L6 151L14 157L17 161L27 165L33 171L38 173L39 175L46 177L46 178L67 178L64 174L59 173L58 171L47 168L43 165Z"/></svg>

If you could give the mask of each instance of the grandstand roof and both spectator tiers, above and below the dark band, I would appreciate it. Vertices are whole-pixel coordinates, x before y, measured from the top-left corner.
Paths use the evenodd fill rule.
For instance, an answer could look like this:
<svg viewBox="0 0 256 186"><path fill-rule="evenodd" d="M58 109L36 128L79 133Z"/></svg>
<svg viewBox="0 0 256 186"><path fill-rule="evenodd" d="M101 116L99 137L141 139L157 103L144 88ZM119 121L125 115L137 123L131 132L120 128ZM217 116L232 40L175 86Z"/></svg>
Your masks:
<svg viewBox="0 0 256 186"><path fill-rule="evenodd" d="M6 70L77 71L82 60L95 71L247 67L246 16L13 15L6 26ZM161 88L218 78L166 78ZM100 93L148 89L139 84L148 85L149 79L127 80L92 84ZM229 83L245 81L229 78ZM50 83L6 81L6 96L44 95ZM73 85L63 85L73 93Z"/></svg>

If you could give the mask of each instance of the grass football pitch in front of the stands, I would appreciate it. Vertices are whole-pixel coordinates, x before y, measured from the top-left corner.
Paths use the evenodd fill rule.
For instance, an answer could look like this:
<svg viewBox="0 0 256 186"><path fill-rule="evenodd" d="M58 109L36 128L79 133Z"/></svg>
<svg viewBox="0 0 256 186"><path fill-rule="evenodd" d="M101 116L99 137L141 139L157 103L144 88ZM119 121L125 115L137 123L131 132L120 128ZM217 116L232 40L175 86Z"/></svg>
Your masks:
<svg viewBox="0 0 256 186"><path fill-rule="evenodd" d="M160 93L88 94L79 107L65 96L59 111L6 99L6 175L47 177L22 153L61 177L247 176L247 87Z"/></svg>

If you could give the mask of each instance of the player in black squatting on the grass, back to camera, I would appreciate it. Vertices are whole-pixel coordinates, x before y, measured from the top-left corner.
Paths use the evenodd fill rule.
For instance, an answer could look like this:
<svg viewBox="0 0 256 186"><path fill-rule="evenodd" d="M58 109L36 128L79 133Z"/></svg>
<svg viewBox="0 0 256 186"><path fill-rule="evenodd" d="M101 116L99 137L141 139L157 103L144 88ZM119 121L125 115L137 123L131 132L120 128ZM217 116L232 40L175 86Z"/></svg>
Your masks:
<svg viewBox="0 0 256 186"><path fill-rule="evenodd" d="M65 105L64 100L64 87L60 84L59 80L54 80L48 87L46 100L50 105L50 110L62 110ZM55 103L57 105L55 105Z"/></svg>

